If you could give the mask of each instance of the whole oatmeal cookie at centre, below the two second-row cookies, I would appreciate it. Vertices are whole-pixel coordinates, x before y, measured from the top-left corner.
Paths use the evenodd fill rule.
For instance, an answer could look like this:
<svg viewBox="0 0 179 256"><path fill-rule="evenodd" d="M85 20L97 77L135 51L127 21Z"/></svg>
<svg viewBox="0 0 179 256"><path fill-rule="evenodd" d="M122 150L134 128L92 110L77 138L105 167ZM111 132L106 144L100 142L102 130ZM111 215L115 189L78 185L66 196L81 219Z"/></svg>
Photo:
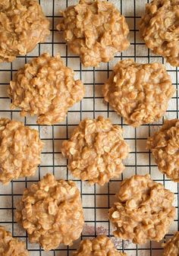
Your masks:
<svg viewBox="0 0 179 256"><path fill-rule="evenodd" d="M80 122L71 139L63 142L61 153L68 158L74 177L104 185L123 172L122 160L127 157L129 147L122 129L99 116Z"/></svg>

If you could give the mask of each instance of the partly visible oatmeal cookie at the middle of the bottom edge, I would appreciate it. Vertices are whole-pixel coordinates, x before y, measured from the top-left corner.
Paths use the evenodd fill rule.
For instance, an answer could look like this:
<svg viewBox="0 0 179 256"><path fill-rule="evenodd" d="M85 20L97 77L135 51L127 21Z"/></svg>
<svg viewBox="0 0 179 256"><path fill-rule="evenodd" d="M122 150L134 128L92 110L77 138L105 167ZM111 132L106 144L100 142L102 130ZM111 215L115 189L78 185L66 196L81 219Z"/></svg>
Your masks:
<svg viewBox="0 0 179 256"><path fill-rule="evenodd" d="M118 251L113 242L105 235L99 235L90 240L86 239L80 242L80 248L74 252L74 256L127 256L127 254Z"/></svg>

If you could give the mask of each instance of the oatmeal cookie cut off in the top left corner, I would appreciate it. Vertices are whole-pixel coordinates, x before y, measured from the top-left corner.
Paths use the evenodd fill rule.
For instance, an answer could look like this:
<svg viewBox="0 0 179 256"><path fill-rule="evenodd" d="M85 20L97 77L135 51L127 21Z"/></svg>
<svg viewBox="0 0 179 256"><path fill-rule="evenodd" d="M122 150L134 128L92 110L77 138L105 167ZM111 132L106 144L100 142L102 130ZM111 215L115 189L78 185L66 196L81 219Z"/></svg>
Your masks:
<svg viewBox="0 0 179 256"><path fill-rule="evenodd" d="M49 21L36 0L1 0L0 62L26 55L49 36Z"/></svg>

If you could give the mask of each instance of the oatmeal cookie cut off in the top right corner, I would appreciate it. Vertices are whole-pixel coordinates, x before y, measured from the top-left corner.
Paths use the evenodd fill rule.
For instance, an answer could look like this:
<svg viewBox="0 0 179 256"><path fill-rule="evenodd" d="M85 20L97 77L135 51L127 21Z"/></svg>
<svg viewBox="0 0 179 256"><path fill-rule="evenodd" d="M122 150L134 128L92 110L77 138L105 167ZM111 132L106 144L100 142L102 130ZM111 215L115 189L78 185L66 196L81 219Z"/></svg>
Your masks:
<svg viewBox="0 0 179 256"><path fill-rule="evenodd" d="M146 4L140 33L152 52L179 66L179 0L153 0Z"/></svg>

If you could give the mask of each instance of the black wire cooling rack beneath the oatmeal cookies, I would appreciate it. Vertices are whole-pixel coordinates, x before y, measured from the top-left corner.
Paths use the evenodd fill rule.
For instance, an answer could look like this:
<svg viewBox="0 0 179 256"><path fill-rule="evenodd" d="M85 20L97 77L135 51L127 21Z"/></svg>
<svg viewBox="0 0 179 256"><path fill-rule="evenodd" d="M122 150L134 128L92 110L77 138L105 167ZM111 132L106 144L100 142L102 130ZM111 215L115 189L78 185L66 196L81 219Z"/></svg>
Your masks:
<svg viewBox="0 0 179 256"><path fill-rule="evenodd" d="M30 125L39 130L40 137L45 143L42 152L42 163L36 175L27 179L18 179L11 182L8 186L0 185L0 225L5 226L17 238L26 241L27 249L31 256L67 256L72 255L72 252L78 247L80 239L74 242L74 245L69 247L60 246L55 251L45 252L39 245L29 244L27 234L20 228L14 220L14 210L17 200L20 199L24 188L30 186L33 182L37 182L47 172L51 172L57 179L74 179L67 169L67 160L61 156L61 142L70 137L71 132L78 123L86 118L96 118L98 115L103 115L111 119L115 124L121 125L124 128L124 138L130 144L130 157L125 161L126 169L119 179L111 180L107 185L99 187L98 185L89 186L86 182L75 180L80 188L83 209L85 215L85 226L81 239L94 237L95 235L105 234L111 236L115 245L119 250L123 250L127 255L133 256L148 256L162 255L161 243L149 242L146 245L133 245L129 241L121 241L114 239L112 235L112 227L108 222L108 208L115 201L115 193L118 191L121 180L130 177L134 174L150 173L152 179L156 182L162 182L165 188L171 189L175 194L175 206L177 214L174 222L171 225L170 232L165 236L168 239L173 235L174 231L179 230L179 186L166 179L155 165L149 151L146 150L146 139L156 129L159 129L164 119L178 118L178 95L177 91L171 99L168 111L164 119L152 125L143 125L140 128L131 128L124 125L123 119L119 118L108 105L103 103L102 84L107 80L111 69L121 59L133 58L137 62L162 62L166 65L168 73L171 75L172 82L177 88L178 72L177 68L173 68L165 63L165 60L153 55L146 48L142 40L140 40L138 23L141 14L145 10L146 1L144 0L110 0L113 2L121 13L124 14L127 24L130 27L130 48L127 51L115 56L114 60L108 64L102 64L99 68L83 68L80 64L80 59L68 51L68 46L62 40L61 34L55 29L56 24L60 19L59 9L64 9L69 5L76 4L77 1L72 0L41 0L46 16L51 21L51 35L46 43L39 44L33 52L27 56L20 56L13 63L0 64L0 116L15 120L20 120L25 125ZM82 79L86 87L86 96L81 103L76 104L69 112L65 122L53 126L36 125L36 118L20 118L19 111L11 111L9 105L11 101L7 96L7 87L9 81L18 68L24 63L30 61L30 58L39 56L42 52L49 52L52 55L60 53L64 59L64 63L76 71L76 77Z"/></svg>

